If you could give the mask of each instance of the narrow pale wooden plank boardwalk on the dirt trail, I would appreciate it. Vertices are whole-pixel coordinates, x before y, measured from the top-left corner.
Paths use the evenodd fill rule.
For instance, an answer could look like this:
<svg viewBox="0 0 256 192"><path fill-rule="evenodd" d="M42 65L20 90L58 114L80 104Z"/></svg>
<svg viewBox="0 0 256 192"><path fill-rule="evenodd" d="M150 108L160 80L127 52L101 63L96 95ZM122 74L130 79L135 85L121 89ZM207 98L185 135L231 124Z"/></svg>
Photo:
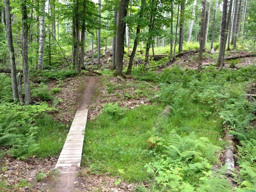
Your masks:
<svg viewBox="0 0 256 192"><path fill-rule="evenodd" d="M80 167L87 113L88 109L76 111L67 139L55 166L60 173L77 172Z"/></svg>

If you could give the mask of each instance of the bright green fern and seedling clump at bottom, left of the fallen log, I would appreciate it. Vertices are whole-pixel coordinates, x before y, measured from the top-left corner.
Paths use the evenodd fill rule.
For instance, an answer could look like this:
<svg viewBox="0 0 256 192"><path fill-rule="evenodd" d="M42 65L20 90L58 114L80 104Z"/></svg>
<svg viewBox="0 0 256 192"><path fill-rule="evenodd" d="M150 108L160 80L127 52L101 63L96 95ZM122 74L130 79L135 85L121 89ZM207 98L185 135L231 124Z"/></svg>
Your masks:
<svg viewBox="0 0 256 192"><path fill-rule="evenodd" d="M212 167L218 162L215 154L220 147L214 146L208 138L198 138L194 132L182 138L172 130L167 139L157 137L156 140L161 140L157 145L162 148L145 168L155 175L158 184L170 191L194 191L201 180L211 177Z"/></svg>

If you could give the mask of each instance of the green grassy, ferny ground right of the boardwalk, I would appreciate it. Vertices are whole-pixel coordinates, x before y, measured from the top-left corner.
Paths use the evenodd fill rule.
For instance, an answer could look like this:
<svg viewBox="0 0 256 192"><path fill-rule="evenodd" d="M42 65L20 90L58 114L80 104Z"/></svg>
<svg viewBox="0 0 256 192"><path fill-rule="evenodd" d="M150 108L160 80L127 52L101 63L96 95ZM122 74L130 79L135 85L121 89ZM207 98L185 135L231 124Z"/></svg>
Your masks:
<svg viewBox="0 0 256 192"><path fill-rule="evenodd" d="M173 67L162 73L148 71L144 77L134 70L135 78L158 83L158 98L151 105L129 110L117 103L106 104L86 126L82 165L92 173L108 172L129 182L147 181L156 187L151 191L212 191L211 185L218 191L231 190L227 180L221 182L225 167L211 169L221 167L224 129L239 134L231 126L233 122L241 128L253 119L255 107L244 99L250 70L209 67L197 73ZM169 116L162 118L166 105L170 106ZM252 139L250 135L245 138ZM253 179L246 179L253 186Z"/></svg>

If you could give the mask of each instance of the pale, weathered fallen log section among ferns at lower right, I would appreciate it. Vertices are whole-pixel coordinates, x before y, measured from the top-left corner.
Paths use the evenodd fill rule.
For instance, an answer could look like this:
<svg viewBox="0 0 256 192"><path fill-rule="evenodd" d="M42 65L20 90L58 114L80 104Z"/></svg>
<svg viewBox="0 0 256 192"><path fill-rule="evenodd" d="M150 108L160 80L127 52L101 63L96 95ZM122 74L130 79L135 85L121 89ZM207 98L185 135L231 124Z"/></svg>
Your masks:
<svg viewBox="0 0 256 192"><path fill-rule="evenodd" d="M233 169L235 168L235 160L234 160L234 141L233 135L227 135L225 140L227 141L227 145L225 147L225 165L228 166L227 175L232 177Z"/></svg>

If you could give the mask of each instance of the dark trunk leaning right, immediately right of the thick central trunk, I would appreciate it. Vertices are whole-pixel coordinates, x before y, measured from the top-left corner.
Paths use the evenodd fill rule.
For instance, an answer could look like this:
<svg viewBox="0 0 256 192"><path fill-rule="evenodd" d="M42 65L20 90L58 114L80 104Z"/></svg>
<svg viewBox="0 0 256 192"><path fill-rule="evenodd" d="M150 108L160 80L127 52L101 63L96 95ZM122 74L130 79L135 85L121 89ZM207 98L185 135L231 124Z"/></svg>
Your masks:
<svg viewBox="0 0 256 192"><path fill-rule="evenodd" d="M143 12L144 12L144 6L146 5L146 0L141 0L141 5L140 5L140 14L139 14L139 18L143 18ZM138 46L138 41L139 41L139 34L140 34L140 23L138 22L137 24L137 29L136 29L136 36L134 39L134 44L133 44L133 48L132 48L132 53L129 59L129 64L128 64L128 68L126 71L126 75L131 75L132 73L132 63L133 63L133 59L137 50L137 46Z"/></svg>

